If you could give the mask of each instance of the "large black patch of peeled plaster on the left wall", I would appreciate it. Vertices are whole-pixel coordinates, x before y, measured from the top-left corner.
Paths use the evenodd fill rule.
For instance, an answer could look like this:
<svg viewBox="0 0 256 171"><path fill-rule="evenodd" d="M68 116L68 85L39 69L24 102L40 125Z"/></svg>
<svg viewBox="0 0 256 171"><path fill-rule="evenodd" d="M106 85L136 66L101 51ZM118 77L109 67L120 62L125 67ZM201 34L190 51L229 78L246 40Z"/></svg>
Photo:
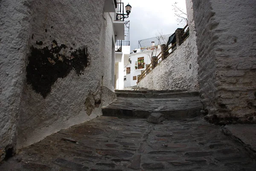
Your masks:
<svg viewBox="0 0 256 171"><path fill-rule="evenodd" d="M31 47L29 64L26 67L26 81L44 98L51 92L51 86L58 78L66 77L71 70L81 75L89 65L87 47L75 49L68 56L60 53L61 49L66 48L64 44L58 46L55 40L52 41L51 47L45 46L42 49Z"/></svg>

